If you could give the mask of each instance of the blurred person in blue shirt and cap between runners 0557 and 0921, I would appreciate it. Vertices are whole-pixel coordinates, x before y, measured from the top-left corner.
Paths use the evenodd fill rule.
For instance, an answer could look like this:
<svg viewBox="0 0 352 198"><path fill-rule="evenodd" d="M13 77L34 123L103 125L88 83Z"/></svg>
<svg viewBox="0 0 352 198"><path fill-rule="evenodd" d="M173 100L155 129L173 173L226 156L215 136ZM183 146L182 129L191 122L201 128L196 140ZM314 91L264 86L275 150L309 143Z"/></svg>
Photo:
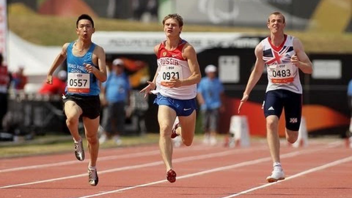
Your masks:
<svg viewBox="0 0 352 198"><path fill-rule="evenodd" d="M102 100L107 107L103 113L102 124L105 131L99 138L100 143L114 137L115 143L121 144L119 135L124 132L125 106L130 106L130 91L130 81L124 72L124 62L115 59L106 82L102 84Z"/></svg>

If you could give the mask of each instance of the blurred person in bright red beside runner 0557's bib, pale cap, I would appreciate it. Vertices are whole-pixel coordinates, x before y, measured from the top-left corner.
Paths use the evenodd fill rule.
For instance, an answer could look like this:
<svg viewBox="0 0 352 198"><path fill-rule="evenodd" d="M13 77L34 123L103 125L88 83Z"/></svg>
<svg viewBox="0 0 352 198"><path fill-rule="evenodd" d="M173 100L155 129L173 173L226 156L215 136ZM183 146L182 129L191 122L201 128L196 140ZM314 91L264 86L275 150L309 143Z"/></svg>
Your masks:
<svg viewBox="0 0 352 198"><path fill-rule="evenodd" d="M40 94L59 94L62 95L65 93L66 87L66 78L67 72L65 70L61 70L57 73L57 76L52 76L52 84L48 84L46 82L43 83L42 88L39 89Z"/></svg>

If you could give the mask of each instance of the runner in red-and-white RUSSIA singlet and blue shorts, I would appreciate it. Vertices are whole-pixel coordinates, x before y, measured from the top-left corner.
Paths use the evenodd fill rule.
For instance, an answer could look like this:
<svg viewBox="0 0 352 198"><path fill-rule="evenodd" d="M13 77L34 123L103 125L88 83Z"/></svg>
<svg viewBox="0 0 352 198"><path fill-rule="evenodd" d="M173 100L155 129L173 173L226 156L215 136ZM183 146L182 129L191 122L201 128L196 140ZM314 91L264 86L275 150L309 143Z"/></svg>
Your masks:
<svg viewBox="0 0 352 198"><path fill-rule="evenodd" d="M171 138L180 135L186 146L190 146L193 142L196 84L200 82L201 74L193 46L180 37L182 17L178 14L169 14L164 18L163 26L166 41L154 48L157 55L157 72L153 81L148 81L149 85L140 92L145 92L145 97L148 93L157 94L154 103L159 105L159 147L166 167L166 179L175 182L176 172L172 169L171 163ZM180 123L175 123L176 116Z"/></svg>

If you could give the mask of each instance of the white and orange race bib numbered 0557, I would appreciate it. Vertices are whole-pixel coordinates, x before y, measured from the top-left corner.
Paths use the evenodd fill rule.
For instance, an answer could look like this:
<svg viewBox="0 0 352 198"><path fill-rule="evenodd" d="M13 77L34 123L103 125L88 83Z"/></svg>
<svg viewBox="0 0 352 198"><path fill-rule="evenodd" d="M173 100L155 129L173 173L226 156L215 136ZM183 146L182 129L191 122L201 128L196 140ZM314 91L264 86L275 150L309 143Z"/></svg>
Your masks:
<svg viewBox="0 0 352 198"><path fill-rule="evenodd" d="M69 93L89 93L89 74L68 73L67 91Z"/></svg>

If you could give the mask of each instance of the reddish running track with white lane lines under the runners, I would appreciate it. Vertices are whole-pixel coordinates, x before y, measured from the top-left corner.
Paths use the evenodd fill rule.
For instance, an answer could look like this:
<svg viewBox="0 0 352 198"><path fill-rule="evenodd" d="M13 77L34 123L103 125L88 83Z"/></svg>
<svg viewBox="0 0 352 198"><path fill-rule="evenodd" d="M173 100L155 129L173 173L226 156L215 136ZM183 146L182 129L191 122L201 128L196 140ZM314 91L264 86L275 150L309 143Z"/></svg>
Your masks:
<svg viewBox="0 0 352 198"><path fill-rule="evenodd" d="M270 184L265 141L175 148L173 184L157 145L100 150L95 187L88 185L88 160L73 153L0 159L0 197L352 197L352 150L342 140L309 143L281 142L286 179Z"/></svg>

